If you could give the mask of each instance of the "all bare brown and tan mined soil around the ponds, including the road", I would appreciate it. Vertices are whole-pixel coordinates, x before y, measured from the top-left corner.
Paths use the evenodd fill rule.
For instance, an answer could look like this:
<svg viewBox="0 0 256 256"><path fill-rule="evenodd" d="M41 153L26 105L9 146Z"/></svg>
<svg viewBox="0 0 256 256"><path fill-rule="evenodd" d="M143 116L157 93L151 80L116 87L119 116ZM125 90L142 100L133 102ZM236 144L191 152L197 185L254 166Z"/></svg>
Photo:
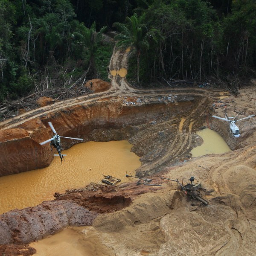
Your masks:
<svg viewBox="0 0 256 256"><path fill-rule="evenodd" d="M127 55L114 51L110 69L126 68ZM223 91L216 88L138 90L125 78L110 78L109 90L55 102L1 122L5 165L17 145L26 143L40 152L38 143L49 138L45 125L52 121L62 135L81 136L85 141L129 139L134 145L132 151L143 162L136 175L151 175L155 178L152 183L162 186L137 186L137 180L133 180L114 187L91 185L81 191L56 194L54 203L1 215L0 243L27 244L67 225L84 225L82 216L91 216L90 223L87 221L91 224L89 233L119 256L256 255L256 118L238 123L239 138L230 135L226 122L211 118L212 114L223 117L224 105L230 116L237 112L240 118L255 114L255 87L244 84L238 97L225 92L229 97L220 99ZM218 131L233 151L191 159L190 150L201 143L195 131L203 126ZM12 131L15 134L17 129L22 131L14 140ZM20 169L10 171L10 165L9 174L24 171L25 160L21 153L16 154ZM50 151L37 154L47 156L41 165L50 163ZM160 179L184 178L187 183L191 175L195 183L202 181L202 196L209 201L208 206L184 195L177 183ZM67 210L70 205L71 215ZM83 212L86 208L92 213ZM36 218L33 222L29 218L31 209ZM70 221L61 217L63 212ZM94 250L100 255L100 249Z"/></svg>

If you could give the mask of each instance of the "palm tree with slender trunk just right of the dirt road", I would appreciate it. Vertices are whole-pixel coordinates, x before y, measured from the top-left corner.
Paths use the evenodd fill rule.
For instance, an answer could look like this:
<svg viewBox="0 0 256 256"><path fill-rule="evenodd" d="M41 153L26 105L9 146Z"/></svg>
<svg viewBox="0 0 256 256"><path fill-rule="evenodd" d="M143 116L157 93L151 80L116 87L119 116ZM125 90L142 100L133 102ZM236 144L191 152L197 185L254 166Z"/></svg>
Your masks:
<svg viewBox="0 0 256 256"><path fill-rule="evenodd" d="M113 23L113 26L119 30L119 34L115 36L117 41L116 47L127 49L131 47L136 52L137 57L137 83L140 84L140 53L143 49L149 48L147 40L147 28L143 21L145 15L140 17L135 13L131 17L126 17L126 24L119 22Z"/></svg>

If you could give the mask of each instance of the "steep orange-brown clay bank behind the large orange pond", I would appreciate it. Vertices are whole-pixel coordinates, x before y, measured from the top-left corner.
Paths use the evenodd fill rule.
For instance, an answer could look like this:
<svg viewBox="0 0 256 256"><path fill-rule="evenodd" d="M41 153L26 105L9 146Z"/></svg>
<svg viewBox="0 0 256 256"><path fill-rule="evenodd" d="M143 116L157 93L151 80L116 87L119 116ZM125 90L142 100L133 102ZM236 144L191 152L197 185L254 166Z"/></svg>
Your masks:
<svg viewBox="0 0 256 256"><path fill-rule="evenodd" d="M180 98L180 99L179 99ZM136 98L137 99L137 98ZM136 99L131 99L136 102ZM145 102L145 101L144 101ZM52 114L31 119L17 128L0 131L0 175L10 175L39 169L52 161L49 146L41 146L44 140L52 137L47 122L52 122L61 136L84 138L84 141L127 140L137 133L136 125L158 122L184 115L197 107L198 100L193 97L176 102L159 102L157 98L134 105L124 104L122 97L91 102L66 108ZM168 113L168 116L163 116ZM65 149L72 146L70 141L62 140ZM135 151L136 152L136 151ZM139 156L145 152L136 152Z"/></svg>

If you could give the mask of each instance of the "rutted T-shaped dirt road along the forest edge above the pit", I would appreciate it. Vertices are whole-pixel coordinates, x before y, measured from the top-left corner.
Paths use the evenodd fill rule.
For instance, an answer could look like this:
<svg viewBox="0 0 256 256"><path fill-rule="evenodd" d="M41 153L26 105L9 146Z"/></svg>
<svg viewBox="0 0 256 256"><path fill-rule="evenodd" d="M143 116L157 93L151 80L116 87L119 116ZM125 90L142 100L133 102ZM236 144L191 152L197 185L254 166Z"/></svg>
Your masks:
<svg viewBox="0 0 256 256"><path fill-rule="evenodd" d="M110 69L120 70L121 68L127 69L127 58L129 51L121 51L119 49L114 49L113 55L111 57ZM98 99L104 98L114 98L118 95L132 95L132 96L160 96L160 94L177 94L182 95L188 93L191 96L204 96L205 98L218 99L222 92L220 91L211 91L209 92L206 89L201 88L166 88L166 89L136 89L131 87L126 81L125 77L120 77L119 75L112 76L109 74L111 79L111 88L108 91L87 94L84 96L79 96L72 99L67 99L61 102L56 102L52 105L47 105L41 108L31 110L29 112L23 113L21 115L15 116L11 119L7 119L0 123L1 129L14 128L17 125L22 124L23 122L29 121L33 118L43 116L44 114L58 111L61 109L69 108L79 104L86 104L87 102L93 102Z"/></svg>

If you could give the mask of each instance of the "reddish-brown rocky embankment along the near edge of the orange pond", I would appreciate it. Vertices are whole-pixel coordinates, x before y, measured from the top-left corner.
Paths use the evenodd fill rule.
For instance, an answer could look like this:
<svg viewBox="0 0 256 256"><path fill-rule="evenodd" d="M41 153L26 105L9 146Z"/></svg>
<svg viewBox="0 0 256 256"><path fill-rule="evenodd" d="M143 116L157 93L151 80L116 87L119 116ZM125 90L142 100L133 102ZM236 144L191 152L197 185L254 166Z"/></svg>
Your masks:
<svg viewBox="0 0 256 256"><path fill-rule="evenodd" d="M155 184L161 180L155 180ZM123 183L117 187L89 184L84 189L55 193L55 201L0 215L0 244L27 244L52 235L64 227L87 226L100 213L128 207L138 195L161 187Z"/></svg>

